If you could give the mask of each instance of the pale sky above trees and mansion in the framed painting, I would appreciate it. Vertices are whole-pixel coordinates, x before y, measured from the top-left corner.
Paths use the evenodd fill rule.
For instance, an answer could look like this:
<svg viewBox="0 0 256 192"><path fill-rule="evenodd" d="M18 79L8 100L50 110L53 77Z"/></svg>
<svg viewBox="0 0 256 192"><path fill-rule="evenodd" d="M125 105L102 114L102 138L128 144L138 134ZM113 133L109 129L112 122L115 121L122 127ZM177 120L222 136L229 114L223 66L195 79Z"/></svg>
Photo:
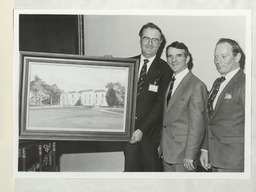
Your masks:
<svg viewBox="0 0 256 192"><path fill-rule="evenodd" d="M121 67L60 65L54 63L31 63L30 81L35 75L49 85L57 84L58 88L69 91L84 89L106 89L110 82L127 83L128 69Z"/></svg>

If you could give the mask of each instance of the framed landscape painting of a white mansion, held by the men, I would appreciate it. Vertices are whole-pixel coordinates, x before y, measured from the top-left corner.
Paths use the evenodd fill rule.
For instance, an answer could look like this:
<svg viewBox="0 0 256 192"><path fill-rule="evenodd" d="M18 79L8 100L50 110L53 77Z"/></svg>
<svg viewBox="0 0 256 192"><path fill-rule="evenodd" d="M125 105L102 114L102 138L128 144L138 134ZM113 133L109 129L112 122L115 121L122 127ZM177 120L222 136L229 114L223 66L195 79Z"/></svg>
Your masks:
<svg viewBox="0 0 256 192"><path fill-rule="evenodd" d="M135 59L20 52L19 138L129 141Z"/></svg>

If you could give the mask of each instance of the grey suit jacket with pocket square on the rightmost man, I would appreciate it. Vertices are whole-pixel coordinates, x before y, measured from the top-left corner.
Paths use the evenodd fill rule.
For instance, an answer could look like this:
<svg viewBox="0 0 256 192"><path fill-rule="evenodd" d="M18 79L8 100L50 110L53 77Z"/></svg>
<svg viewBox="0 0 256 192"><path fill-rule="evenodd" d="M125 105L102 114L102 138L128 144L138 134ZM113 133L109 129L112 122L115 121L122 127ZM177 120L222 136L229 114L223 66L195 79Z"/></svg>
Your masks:
<svg viewBox="0 0 256 192"><path fill-rule="evenodd" d="M221 92L202 148L214 167L244 168L245 74L240 69Z"/></svg>

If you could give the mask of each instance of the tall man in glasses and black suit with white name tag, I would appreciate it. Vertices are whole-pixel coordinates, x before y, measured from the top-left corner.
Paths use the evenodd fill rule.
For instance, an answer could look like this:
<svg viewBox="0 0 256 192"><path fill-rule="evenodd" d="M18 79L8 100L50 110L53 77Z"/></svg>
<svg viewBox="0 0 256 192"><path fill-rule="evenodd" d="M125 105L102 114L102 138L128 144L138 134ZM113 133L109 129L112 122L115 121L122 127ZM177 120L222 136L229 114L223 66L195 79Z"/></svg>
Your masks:
<svg viewBox="0 0 256 192"><path fill-rule="evenodd" d="M172 70L159 56L164 41L161 29L145 24L140 32L141 55L137 91L135 131L126 143L125 171L161 171L158 155L163 117L163 99Z"/></svg>

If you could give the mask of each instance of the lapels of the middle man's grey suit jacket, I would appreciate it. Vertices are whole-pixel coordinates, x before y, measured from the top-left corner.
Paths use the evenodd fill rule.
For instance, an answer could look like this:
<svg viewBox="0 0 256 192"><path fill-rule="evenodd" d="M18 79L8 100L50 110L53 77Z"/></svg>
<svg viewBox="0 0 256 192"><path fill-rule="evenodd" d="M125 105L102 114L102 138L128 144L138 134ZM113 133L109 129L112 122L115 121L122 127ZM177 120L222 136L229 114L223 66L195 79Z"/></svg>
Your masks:
<svg viewBox="0 0 256 192"><path fill-rule="evenodd" d="M192 72L189 71L188 74L181 80L180 84L178 85L178 87L176 88L175 92L173 93L171 100L168 104L168 106L166 107L165 110L165 115L168 113L168 111L172 108L173 104L177 102L177 100L181 97L181 95L184 93L184 91L186 90L187 84L192 76ZM170 86L169 86L170 87ZM169 90L169 89L168 89ZM168 92L167 90L167 92ZM165 95L165 100L167 98L167 94ZM166 103L166 101L165 101Z"/></svg>

